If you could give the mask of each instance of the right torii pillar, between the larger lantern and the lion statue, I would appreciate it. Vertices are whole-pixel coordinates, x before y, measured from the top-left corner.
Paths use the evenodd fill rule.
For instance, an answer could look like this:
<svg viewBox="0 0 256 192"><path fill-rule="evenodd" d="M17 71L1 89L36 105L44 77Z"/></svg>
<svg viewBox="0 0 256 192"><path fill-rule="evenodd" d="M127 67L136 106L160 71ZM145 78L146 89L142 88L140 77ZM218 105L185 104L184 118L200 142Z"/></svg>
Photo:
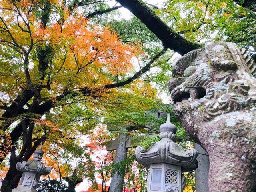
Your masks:
<svg viewBox="0 0 256 192"><path fill-rule="evenodd" d="M195 170L196 178L196 192L208 192L209 191L209 155L208 153L197 143L194 143L194 148L198 151L197 161L198 168Z"/></svg>

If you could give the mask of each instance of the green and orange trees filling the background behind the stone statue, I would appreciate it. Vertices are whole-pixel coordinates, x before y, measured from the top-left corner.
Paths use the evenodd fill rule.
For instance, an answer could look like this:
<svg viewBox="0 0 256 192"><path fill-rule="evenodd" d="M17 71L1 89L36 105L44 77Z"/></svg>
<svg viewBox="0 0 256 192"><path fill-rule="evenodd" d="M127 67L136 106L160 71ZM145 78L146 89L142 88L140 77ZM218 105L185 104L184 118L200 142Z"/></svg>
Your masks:
<svg viewBox="0 0 256 192"><path fill-rule="evenodd" d="M123 7L132 16L120 17ZM171 105L160 99L174 53L231 41L256 60L255 8L254 0L0 0L1 192L16 188L16 163L40 144L53 168L40 191L51 183L71 192L84 179L90 192L108 191L114 153L105 144L118 132L106 124L139 126L134 136L156 132L164 121L156 109L172 114L179 141L189 146ZM148 170L138 172L134 160L130 149L124 187L144 192ZM187 177L186 190L194 191L193 173Z"/></svg>

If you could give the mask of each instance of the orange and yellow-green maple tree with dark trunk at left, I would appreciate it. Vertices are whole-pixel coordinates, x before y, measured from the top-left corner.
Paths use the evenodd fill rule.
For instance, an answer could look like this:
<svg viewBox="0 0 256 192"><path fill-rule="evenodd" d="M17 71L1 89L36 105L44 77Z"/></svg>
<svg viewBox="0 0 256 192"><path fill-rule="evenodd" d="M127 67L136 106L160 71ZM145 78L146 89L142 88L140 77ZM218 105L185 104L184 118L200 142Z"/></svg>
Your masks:
<svg viewBox="0 0 256 192"><path fill-rule="evenodd" d="M86 99L91 102L86 103L87 108L93 108L95 100L116 92L109 88L129 83L113 82L131 70L132 58L142 51L139 46L122 44L108 26L89 24L75 11L78 5L65 7L44 0L8 0L0 4L1 130L5 132L1 135L10 133L10 138L8 134L3 138L6 146L1 146L1 161L8 154L7 141L12 142L10 168L2 190L10 191L21 176L15 169L17 162L28 160L44 140L72 139L74 129L68 132L68 126L66 132L60 132L63 128L56 119L45 120L42 116L52 116L52 108L63 112L65 106L71 107L69 103ZM51 20L50 12L54 11L60 19Z"/></svg>

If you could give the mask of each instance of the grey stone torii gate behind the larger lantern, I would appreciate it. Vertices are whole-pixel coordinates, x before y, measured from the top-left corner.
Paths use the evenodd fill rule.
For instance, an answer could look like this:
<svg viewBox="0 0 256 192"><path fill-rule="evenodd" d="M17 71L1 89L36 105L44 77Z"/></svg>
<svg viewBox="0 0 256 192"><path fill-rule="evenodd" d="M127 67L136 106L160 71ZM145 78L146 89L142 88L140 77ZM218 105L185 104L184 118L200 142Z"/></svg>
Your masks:
<svg viewBox="0 0 256 192"><path fill-rule="evenodd" d="M166 112L156 112L156 117L164 118L165 116L167 116ZM135 138L129 136L128 134L132 130L140 129L138 126L127 125L123 126L122 128L126 129L127 132L120 132L118 139L107 142L106 146L107 151L116 150L114 164L118 164L126 160L128 148L137 147L140 140L143 139L143 136L141 136L141 138ZM114 131L120 130L122 128L118 128L117 126L108 127L108 130ZM209 156L208 153L199 144L194 143L194 148L198 151L198 168L195 170L196 192L208 192ZM120 166L118 166L118 170L113 171L109 192L122 192L124 175L125 167L120 168Z"/></svg>

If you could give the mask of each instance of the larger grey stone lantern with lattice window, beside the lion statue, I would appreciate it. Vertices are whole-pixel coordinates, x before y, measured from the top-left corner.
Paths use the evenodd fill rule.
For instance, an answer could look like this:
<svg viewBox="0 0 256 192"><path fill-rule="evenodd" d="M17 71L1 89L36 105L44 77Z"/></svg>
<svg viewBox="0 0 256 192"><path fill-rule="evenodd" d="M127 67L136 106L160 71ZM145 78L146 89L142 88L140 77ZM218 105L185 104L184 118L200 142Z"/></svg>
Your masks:
<svg viewBox="0 0 256 192"><path fill-rule="evenodd" d="M180 144L174 142L176 131L168 114L166 123L160 126L161 140L148 150L142 146L136 148L138 163L150 167L148 192L183 192L186 183L182 172L195 170L198 166L197 151L185 151Z"/></svg>

